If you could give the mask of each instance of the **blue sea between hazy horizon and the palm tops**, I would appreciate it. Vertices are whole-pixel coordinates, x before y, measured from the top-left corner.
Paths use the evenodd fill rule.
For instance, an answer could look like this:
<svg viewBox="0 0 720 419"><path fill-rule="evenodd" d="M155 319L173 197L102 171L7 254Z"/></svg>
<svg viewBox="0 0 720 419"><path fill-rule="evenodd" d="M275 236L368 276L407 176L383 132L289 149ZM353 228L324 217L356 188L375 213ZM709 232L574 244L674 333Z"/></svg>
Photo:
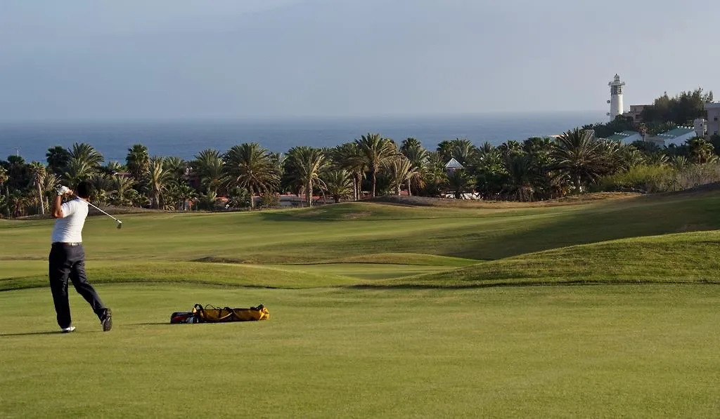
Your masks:
<svg viewBox="0 0 720 419"><path fill-rule="evenodd" d="M272 152L297 145L334 147L367 133L379 133L400 144L414 137L428 149L445 139L467 138L476 145L501 144L508 139L561 134L567 129L604 121L601 112L499 114L475 116L415 116L356 119L278 119L258 121L112 121L32 122L0 124L0 159L21 155L45 162L48 148L86 142L105 161L125 162L132 144L145 144L150 155L191 160L203 149L225 152L233 145L258 142Z"/></svg>

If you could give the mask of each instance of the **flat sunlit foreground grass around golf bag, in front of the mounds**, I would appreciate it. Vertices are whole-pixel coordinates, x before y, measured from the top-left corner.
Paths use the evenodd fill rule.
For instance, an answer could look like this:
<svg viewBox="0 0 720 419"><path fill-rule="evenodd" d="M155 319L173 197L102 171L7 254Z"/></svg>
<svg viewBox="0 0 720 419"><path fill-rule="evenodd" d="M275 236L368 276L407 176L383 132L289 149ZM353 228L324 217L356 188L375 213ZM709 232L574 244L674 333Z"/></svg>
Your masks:
<svg viewBox="0 0 720 419"><path fill-rule="evenodd" d="M475 290L99 287L102 333L73 295L0 293L0 416L688 417L720 414L720 288ZM168 325L194 302L269 321Z"/></svg>

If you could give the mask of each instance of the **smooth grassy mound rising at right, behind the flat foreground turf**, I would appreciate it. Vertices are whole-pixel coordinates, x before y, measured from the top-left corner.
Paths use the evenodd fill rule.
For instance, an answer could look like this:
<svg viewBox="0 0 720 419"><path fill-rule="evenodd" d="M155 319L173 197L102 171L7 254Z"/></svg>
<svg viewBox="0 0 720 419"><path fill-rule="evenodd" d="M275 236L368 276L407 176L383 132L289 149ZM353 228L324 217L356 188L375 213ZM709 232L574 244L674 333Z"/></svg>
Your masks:
<svg viewBox="0 0 720 419"><path fill-rule="evenodd" d="M720 232L566 247L373 285L483 287L638 282L720 283Z"/></svg>

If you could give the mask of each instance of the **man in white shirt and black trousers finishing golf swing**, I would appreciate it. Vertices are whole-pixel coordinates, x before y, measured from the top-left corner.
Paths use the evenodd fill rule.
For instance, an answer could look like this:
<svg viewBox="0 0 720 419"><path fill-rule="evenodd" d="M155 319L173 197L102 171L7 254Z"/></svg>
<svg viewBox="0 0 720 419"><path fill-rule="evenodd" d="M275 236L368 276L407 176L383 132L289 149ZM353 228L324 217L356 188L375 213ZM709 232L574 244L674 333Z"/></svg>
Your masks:
<svg viewBox="0 0 720 419"><path fill-rule="evenodd" d="M90 285L85 275L85 249L82 231L85 217L88 215L88 203L83 200L90 198L91 185L88 182L78 183L79 198L63 203L63 196L73 195L66 186L58 188L58 195L53 203L53 246L50 249L50 290L53 291L55 313L58 314L58 325L63 333L75 330L70 316L68 303L68 277L75 290L90 303L92 310L100 319L103 331L112 328L112 312L105 307Z"/></svg>

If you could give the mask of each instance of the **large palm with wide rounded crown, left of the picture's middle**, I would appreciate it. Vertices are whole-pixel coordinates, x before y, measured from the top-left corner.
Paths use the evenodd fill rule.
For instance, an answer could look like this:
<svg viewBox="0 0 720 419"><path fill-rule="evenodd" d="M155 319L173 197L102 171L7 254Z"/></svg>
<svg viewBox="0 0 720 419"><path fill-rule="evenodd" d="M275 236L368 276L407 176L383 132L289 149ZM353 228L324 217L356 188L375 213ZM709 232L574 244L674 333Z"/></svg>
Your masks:
<svg viewBox="0 0 720 419"><path fill-rule="evenodd" d="M280 183L279 170L270 153L256 142L233 146L224 156L224 172L229 187L246 189L250 207L255 208L256 192L268 193Z"/></svg>

